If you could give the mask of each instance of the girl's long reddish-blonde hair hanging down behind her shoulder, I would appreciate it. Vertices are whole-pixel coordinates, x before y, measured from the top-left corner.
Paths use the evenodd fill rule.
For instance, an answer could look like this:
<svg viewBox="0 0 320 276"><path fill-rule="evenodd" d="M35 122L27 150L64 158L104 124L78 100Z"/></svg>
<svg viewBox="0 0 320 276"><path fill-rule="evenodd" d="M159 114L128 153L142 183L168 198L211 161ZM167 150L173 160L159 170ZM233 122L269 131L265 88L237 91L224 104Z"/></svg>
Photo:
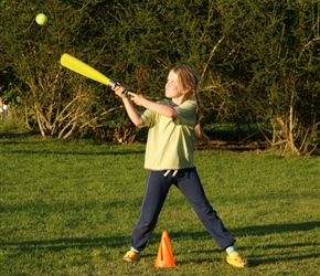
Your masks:
<svg viewBox="0 0 320 276"><path fill-rule="evenodd" d="M174 72L180 79L180 83L184 89L189 91L190 97L195 102L196 105L196 126L195 132L198 135L199 141L201 144L209 144L207 136L203 132L200 126L200 116L201 116L201 108L200 108L200 100L199 100L199 75L196 71L186 66L186 65L179 65L171 70Z"/></svg>

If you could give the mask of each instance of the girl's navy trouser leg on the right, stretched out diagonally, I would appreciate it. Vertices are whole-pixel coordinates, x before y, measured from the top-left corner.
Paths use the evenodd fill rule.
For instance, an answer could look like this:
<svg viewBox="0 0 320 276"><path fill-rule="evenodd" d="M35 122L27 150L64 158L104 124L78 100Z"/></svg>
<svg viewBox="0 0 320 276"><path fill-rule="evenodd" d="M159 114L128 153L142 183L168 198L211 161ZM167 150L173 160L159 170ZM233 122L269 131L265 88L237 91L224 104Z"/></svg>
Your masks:
<svg viewBox="0 0 320 276"><path fill-rule="evenodd" d="M233 245L235 240L207 201L196 170L180 170L174 182L217 245L222 250Z"/></svg>

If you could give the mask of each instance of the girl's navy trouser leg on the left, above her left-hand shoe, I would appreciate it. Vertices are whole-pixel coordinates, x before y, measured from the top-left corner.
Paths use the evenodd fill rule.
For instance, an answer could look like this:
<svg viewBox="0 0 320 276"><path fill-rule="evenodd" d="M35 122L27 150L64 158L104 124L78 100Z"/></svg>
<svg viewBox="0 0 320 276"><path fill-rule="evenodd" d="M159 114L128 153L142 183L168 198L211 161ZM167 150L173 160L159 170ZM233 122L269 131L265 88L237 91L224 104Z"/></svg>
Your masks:
<svg viewBox="0 0 320 276"><path fill-rule="evenodd" d="M171 182L163 174L163 171L150 171L148 174L140 217L130 240L131 246L139 252L145 250L156 227L159 213L171 187Z"/></svg>

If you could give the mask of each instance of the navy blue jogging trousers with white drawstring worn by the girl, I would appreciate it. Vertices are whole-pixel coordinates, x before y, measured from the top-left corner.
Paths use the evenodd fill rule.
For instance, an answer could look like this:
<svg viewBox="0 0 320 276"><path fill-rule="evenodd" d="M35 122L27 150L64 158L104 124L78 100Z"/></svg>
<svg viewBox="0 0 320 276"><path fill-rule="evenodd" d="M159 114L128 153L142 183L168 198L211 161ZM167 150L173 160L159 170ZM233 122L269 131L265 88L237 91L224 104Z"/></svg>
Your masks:
<svg viewBox="0 0 320 276"><path fill-rule="evenodd" d="M184 194L216 244L222 250L233 245L235 240L206 199L196 169L182 169L175 176L173 171L167 177L164 173L166 171L150 171L148 174L141 213L130 240L131 246L139 252L145 250L172 184Z"/></svg>

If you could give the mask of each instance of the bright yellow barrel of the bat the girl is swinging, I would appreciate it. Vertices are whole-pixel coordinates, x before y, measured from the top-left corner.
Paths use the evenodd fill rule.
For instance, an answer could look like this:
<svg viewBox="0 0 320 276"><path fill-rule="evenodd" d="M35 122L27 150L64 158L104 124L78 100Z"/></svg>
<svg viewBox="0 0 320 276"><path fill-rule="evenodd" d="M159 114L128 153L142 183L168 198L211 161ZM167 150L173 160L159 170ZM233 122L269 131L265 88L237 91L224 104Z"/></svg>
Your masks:
<svg viewBox="0 0 320 276"><path fill-rule="evenodd" d="M117 86L117 82L114 79L110 79L109 77L105 76L104 74L102 74L100 72L98 72L97 70L93 68L92 66L89 66L88 64L79 61L78 59L64 53L61 59L60 59L60 63L65 66L66 68L72 70L73 72L76 72L83 76L86 76L90 79L94 79L96 82L99 82L102 84L106 84L109 85L111 87ZM124 92L126 95L128 94L127 91Z"/></svg>

